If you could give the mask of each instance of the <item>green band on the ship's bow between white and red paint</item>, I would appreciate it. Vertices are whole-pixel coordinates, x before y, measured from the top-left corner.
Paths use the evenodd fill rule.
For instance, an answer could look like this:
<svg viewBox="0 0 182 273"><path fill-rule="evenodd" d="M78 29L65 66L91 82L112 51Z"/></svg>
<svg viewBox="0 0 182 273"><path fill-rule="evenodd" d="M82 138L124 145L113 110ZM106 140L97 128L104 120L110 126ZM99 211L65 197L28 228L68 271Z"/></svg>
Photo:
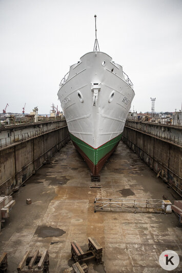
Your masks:
<svg viewBox="0 0 182 273"><path fill-rule="evenodd" d="M98 161L110 152L114 146L120 141L122 134L116 136L116 138L108 141L104 145L98 147L97 149L92 148L87 143L76 138L73 134L70 133L71 140L76 143L76 145L83 150L87 157L93 162L94 165L97 165Z"/></svg>

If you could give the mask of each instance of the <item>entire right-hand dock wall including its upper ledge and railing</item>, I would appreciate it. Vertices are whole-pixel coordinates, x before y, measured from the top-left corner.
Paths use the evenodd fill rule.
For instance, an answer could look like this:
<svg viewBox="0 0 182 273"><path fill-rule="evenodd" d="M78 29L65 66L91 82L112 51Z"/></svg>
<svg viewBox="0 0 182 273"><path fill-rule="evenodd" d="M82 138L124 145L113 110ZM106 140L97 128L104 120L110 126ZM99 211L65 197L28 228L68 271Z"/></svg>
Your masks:
<svg viewBox="0 0 182 273"><path fill-rule="evenodd" d="M156 126L127 121L122 140L157 173L157 176L182 196L181 132L182 128L171 125Z"/></svg>

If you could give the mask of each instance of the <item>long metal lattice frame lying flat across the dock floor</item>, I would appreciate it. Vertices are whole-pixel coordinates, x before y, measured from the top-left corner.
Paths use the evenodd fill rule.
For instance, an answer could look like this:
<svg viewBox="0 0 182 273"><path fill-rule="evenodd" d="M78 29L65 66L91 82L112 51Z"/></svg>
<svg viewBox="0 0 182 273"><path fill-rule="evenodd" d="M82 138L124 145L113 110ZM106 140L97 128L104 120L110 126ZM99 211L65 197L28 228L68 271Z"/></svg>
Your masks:
<svg viewBox="0 0 182 273"><path fill-rule="evenodd" d="M121 198L95 198L94 212L150 212L150 213L171 213L171 202L159 199L121 199Z"/></svg>

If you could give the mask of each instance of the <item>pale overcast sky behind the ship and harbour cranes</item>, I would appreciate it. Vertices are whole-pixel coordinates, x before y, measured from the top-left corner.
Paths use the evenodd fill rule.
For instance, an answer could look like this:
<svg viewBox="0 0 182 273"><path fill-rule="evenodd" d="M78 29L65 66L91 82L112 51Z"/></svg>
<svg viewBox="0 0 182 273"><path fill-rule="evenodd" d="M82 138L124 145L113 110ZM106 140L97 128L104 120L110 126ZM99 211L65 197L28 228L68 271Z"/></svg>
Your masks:
<svg viewBox="0 0 182 273"><path fill-rule="evenodd" d="M181 108L182 0L0 0L0 112L49 113L69 66L100 51L133 82L134 109Z"/></svg>

